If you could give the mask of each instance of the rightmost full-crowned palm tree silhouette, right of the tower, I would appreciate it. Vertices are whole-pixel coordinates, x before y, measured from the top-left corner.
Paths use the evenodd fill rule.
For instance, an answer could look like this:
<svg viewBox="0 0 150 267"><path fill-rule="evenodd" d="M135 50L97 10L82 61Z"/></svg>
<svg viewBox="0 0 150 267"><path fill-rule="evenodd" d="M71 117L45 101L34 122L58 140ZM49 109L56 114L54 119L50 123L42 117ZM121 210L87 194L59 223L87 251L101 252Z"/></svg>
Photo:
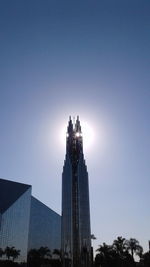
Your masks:
<svg viewBox="0 0 150 267"><path fill-rule="evenodd" d="M131 253L132 259L134 260L134 254L141 256L143 248L140 246L139 241L135 238L126 240L127 250Z"/></svg>

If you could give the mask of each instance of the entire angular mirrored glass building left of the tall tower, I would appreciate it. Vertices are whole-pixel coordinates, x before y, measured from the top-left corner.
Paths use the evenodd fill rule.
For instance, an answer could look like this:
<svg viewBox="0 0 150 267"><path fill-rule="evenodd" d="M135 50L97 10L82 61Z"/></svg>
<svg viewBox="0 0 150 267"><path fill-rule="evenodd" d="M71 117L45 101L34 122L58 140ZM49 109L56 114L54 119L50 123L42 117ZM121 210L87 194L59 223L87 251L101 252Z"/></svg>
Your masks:
<svg viewBox="0 0 150 267"><path fill-rule="evenodd" d="M30 185L0 179L0 248L20 250L26 262L28 249L60 249L61 216L31 196Z"/></svg>

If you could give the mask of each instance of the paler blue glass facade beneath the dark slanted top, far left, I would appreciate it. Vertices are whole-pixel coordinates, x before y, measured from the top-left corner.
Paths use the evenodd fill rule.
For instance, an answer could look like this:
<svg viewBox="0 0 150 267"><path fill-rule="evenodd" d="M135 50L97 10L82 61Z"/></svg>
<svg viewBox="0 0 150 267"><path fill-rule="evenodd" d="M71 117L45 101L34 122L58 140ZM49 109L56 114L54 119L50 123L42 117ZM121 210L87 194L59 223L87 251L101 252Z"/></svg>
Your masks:
<svg viewBox="0 0 150 267"><path fill-rule="evenodd" d="M31 187L0 216L0 247L20 250L19 262L27 260L30 202Z"/></svg>

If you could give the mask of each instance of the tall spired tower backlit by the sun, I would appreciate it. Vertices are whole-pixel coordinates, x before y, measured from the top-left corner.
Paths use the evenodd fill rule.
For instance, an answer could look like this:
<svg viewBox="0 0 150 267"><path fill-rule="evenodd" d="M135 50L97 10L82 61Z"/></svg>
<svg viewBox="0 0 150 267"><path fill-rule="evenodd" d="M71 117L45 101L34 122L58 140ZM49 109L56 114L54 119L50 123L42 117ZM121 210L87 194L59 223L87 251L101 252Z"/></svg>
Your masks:
<svg viewBox="0 0 150 267"><path fill-rule="evenodd" d="M91 230L88 172L79 117L69 118L62 174L63 267L90 267Z"/></svg>

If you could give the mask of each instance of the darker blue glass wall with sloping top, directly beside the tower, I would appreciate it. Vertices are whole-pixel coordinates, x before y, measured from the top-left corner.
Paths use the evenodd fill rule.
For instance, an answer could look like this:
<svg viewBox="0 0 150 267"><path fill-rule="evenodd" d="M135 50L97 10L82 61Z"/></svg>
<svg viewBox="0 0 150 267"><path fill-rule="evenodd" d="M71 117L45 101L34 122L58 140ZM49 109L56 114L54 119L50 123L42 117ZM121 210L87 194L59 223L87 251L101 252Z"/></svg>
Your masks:
<svg viewBox="0 0 150 267"><path fill-rule="evenodd" d="M41 246L51 252L61 247L61 216L42 202L31 197L28 250Z"/></svg>

